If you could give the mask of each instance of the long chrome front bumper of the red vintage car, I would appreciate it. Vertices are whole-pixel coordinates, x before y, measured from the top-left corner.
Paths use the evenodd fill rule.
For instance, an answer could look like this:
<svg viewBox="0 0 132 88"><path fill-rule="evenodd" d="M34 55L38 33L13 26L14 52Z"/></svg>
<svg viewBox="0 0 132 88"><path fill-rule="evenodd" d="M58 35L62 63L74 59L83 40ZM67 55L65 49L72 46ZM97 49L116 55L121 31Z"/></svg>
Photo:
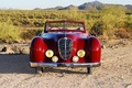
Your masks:
<svg viewBox="0 0 132 88"><path fill-rule="evenodd" d="M32 63L31 67L96 67L100 66L101 63Z"/></svg>

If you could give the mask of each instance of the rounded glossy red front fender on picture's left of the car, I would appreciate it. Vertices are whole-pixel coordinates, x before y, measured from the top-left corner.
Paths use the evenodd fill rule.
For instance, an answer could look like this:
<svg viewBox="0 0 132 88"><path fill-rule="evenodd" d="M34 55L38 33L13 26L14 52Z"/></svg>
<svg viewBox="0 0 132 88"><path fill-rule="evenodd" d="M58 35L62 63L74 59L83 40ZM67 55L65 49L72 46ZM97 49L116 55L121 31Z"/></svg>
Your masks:
<svg viewBox="0 0 132 88"><path fill-rule="evenodd" d="M42 63L45 58L46 50L47 45L44 43L43 37L34 37L30 45L30 62Z"/></svg>

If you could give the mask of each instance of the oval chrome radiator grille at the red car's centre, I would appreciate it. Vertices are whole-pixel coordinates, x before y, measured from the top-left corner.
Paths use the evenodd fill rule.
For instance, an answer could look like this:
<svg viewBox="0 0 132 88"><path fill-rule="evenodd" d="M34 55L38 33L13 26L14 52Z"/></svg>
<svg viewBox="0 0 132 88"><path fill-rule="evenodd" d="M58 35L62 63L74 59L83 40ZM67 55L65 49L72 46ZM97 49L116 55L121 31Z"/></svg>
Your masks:
<svg viewBox="0 0 132 88"><path fill-rule="evenodd" d="M59 54L63 59L67 59L70 56L73 47L73 41L68 37L63 37L58 41Z"/></svg>

